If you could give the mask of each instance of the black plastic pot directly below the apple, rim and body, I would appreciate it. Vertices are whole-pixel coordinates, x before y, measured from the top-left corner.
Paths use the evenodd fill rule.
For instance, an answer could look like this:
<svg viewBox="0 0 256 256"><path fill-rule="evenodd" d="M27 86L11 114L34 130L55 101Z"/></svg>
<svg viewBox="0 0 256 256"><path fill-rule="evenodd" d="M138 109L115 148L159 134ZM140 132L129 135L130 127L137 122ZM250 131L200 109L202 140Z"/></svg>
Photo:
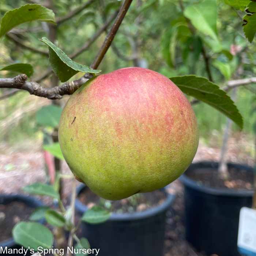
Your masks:
<svg viewBox="0 0 256 256"><path fill-rule="evenodd" d="M80 185L77 194L86 189ZM116 214L104 223L82 223L82 237L91 248L100 249L107 256L162 256L166 225L166 211L174 201L174 195L165 191L164 203L143 212ZM76 199L76 210L82 215L87 207Z"/></svg>

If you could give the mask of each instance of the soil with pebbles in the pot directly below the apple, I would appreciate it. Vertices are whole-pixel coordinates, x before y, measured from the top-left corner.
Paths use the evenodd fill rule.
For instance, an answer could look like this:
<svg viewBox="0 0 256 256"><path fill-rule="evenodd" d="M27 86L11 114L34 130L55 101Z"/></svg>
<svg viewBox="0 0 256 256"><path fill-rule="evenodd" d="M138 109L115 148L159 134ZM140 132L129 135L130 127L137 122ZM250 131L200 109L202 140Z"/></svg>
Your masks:
<svg viewBox="0 0 256 256"><path fill-rule="evenodd" d="M138 193L122 200L110 201L102 199L95 195L89 188L85 188L78 198L88 207L96 204L111 212L124 213L145 211L148 208L158 206L165 201L166 195L163 191L157 190L150 193Z"/></svg>

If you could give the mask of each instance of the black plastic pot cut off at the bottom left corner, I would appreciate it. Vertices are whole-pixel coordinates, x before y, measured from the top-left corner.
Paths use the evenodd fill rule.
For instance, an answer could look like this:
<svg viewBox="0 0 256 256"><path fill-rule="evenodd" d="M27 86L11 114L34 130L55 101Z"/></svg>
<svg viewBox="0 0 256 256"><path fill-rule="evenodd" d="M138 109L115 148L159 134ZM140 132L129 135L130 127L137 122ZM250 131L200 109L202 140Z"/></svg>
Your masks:
<svg viewBox="0 0 256 256"><path fill-rule="evenodd" d="M21 202L31 208L37 208L37 207L44 206L44 204L40 200L38 200L34 197L31 197L31 196L0 194L0 204L8 204L11 202ZM41 223L42 222L43 221L41 221ZM0 241L0 247L3 247L3 248L7 247L8 249L21 248L20 245L15 243L15 241L12 239L12 237L10 237L8 240L2 241L2 242ZM7 256L7 255L10 256L10 254L4 254L4 253L0 253L0 254L1 254L1 256ZM14 255L17 255L17 254L12 254L12 256L14 256ZM21 254L21 255L23 255L23 254Z"/></svg>

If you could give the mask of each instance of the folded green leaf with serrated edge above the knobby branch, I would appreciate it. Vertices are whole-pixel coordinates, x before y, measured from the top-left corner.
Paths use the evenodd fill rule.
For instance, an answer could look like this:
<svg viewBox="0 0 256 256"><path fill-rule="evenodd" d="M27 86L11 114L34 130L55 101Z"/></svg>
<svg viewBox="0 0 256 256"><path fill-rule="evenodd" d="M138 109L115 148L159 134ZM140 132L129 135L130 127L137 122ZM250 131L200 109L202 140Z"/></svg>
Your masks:
<svg viewBox="0 0 256 256"><path fill-rule="evenodd" d="M72 61L67 54L63 52L60 48L54 45L48 38L43 37L39 39L49 46L49 61L50 65L61 80L61 82L66 82L69 78L77 74L79 71L83 73L96 74L101 72L97 69L92 69L85 65L76 63Z"/></svg>

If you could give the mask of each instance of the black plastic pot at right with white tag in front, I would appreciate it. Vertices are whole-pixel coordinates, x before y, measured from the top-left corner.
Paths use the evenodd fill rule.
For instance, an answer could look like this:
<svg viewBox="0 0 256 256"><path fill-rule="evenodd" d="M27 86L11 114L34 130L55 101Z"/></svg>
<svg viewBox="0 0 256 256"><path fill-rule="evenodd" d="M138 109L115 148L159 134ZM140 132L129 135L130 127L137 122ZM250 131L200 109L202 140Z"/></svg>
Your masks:
<svg viewBox="0 0 256 256"><path fill-rule="evenodd" d="M253 168L246 165L229 163L228 167L253 172ZM186 173L204 168L216 170L218 163L193 163L180 177L185 187L186 238L198 251L207 255L238 256L239 212L243 206L252 206L253 190L205 187L186 176Z"/></svg>

